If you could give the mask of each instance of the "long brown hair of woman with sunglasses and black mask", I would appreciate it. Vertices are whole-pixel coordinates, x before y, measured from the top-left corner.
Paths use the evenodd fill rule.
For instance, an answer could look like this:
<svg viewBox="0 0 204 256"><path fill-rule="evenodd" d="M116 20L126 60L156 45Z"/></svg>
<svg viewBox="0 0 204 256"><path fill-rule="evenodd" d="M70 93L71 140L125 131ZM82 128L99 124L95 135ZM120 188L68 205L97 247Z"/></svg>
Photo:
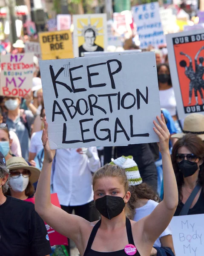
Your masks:
<svg viewBox="0 0 204 256"><path fill-rule="evenodd" d="M178 148L187 147L193 154L204 160L204 142L196 136L195 134L186 134L181 139L177 140L172 149L172 165L178 186L178 196L179 200L182 201L181 187L184 184L184 177L179 171L178 163L176 161L176 155L178 154ZM200 171L198 174L198 183L204 187L204 166L200 166Z"/></svg>

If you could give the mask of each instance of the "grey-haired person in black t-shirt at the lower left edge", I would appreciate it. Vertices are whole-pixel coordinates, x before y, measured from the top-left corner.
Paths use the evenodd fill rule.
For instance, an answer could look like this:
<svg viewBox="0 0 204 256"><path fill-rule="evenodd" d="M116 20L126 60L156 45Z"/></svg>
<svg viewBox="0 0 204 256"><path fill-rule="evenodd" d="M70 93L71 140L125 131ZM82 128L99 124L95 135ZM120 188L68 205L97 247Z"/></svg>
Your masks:
<svg viewBox="0 0 204 256"><path fill-rule="evenodd" d="M0 256L47 256L49 237L34 204L5 196L9 170L0 152Z"/></svg>

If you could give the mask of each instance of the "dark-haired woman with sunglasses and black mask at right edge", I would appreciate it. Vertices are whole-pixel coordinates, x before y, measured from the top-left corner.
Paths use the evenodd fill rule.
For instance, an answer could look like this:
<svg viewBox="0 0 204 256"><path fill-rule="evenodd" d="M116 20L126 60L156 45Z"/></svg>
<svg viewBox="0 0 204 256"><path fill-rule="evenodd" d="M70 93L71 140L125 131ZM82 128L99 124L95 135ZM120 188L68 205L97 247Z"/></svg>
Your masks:
<svg viewBox="0 0 204 256"><path fill-rule="evenodd" d="M172 164L178 185L175 216L204 213L204 142L186 134L172 149Z"/></svg>

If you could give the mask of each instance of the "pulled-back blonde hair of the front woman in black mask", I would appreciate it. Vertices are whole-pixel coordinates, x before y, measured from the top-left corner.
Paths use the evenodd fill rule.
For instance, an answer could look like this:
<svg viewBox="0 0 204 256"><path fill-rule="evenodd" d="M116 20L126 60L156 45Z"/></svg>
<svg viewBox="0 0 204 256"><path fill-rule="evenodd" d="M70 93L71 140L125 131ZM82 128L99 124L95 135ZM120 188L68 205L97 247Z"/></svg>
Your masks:
<svg viewBox="0 0 204 256"><path fill-rule="evenodd" d="M121 184L124 186L125 193L127 193L129 191L128 190L129 183L128 183L125 169L123 169L117 165L111 165L111 164L106 164L105 166L101 167L93 175L93 189L94 189L96 181L103 177L117 177L118 180L120 180ZM131 215L128 204L125 204L125 214L127 217L129 217Z"/></svg>

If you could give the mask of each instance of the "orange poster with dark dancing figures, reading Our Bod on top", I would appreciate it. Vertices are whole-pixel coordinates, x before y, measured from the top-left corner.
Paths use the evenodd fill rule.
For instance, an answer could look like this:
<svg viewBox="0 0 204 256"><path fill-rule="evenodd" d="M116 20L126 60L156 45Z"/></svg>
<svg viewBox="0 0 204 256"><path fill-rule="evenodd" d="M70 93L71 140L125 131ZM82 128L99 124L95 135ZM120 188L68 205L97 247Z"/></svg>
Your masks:
<svg viewBox="0 0 204 256"><path fill-rule="evenodd" d="M167 49L179 119L204 114L204 30L168 34Z"/></svg>

